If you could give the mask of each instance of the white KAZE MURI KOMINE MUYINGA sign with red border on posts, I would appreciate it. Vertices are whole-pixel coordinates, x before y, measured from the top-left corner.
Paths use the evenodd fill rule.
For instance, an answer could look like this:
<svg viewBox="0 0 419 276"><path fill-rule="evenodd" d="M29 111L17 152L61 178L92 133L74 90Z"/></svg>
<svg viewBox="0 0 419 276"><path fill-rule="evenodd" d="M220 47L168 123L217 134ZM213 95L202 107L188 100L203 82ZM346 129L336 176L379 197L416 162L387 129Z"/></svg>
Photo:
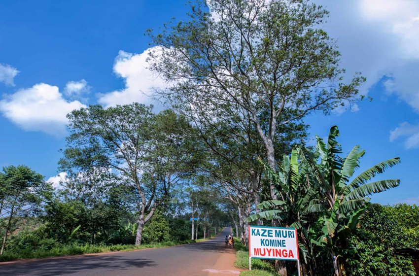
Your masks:
<svg viewBox="0 0 419 276"><path fill-rule="evenodd" d="M249 225L249 270L251 258L297 261L300 276L297 229Z"/></svg>

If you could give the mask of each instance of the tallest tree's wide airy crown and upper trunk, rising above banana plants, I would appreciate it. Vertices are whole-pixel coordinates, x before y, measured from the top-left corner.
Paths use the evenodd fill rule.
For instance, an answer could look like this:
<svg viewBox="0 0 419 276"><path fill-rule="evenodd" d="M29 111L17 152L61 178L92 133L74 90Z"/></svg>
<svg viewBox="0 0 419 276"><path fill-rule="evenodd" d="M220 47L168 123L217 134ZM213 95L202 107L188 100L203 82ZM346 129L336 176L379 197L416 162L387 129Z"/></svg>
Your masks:
<svg viewBox="0 0 419 276"><path fill-rule="evenodd" d="M364 78L342 83L340 53L321 29L328 15L321 6L211 0L209 9L198 0L188 15L189 21L165 24L158 34L147 31L156 46L150 68L172 84L159 93L206 121L222 120L220 107L246 110L274 171L278 127L360 98ZM272 184L271 196L277 198Z"/></svg>

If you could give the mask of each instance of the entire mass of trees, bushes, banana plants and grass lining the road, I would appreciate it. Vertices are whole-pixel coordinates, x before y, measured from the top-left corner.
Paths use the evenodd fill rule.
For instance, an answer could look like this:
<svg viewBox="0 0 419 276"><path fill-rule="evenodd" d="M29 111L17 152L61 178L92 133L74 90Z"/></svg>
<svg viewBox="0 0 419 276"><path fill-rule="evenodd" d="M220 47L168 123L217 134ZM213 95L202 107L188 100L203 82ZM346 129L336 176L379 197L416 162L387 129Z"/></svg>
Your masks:
<svg viewBox="0 0 419 276"><path fill-rule="evenodd" d="M168 109L70 112L55 188L27 166L3 168L0 261L184 244L231 225L235 265L247 269L248 226L265 225L297 230L303 276L414 276L395 252L419 247L419 207L370 198L403 185L385 177L400 158L365 168L368 151L343 147L338 126L313 143L304 122L365 98L365 78L339 67L321 29L328 11L310 0L210 5L146 31L149 69L167 85L154 96ZM242 275L299 269L251 262Z"/></svg>

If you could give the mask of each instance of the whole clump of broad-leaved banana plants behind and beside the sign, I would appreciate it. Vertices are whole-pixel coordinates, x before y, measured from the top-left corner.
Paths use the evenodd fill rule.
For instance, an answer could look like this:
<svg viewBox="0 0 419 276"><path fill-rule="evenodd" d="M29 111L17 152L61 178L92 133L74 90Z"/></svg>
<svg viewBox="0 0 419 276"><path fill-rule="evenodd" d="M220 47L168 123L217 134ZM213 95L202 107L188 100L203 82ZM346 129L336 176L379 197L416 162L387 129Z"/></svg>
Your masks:
<svg viewBox="0 0 419 276"><path fill-rule="evenodd" d="M354 146L346 157L341 157L342 147L336 140L339 136L338 127L333 126L327 143L317 136L314 150L305 147L293 150L291 157L283 157L277 173L263 164L281 200L260 204L264 211L247 219L278 219L282 226L296 228L301 237L302 263L313 274L314 271L329 273L333 265L334 275L342 275L345 270L344 251L351 252L349 239L370 206L367 196L400 183L398 179L369 182L377 174L400 163L399 158L381 162L354 177L365 151ZM409 214L415 217L415 214ZM321 253L330 256L329 265L323 263Z"/></svg>

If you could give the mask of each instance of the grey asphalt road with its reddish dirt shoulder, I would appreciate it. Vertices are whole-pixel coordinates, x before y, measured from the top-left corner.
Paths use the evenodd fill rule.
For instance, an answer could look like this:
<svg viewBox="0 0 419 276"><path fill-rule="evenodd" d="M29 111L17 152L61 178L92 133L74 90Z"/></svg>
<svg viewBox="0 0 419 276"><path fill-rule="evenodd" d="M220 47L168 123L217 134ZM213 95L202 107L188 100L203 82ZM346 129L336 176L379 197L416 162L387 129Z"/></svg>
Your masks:
<svg viewBox="0 0 419 276"><path fill-rule="evenodd" d="M205 242L95 255L0 263L1 276L234 276L234 249L225 248L231 228Z"/></svg>

